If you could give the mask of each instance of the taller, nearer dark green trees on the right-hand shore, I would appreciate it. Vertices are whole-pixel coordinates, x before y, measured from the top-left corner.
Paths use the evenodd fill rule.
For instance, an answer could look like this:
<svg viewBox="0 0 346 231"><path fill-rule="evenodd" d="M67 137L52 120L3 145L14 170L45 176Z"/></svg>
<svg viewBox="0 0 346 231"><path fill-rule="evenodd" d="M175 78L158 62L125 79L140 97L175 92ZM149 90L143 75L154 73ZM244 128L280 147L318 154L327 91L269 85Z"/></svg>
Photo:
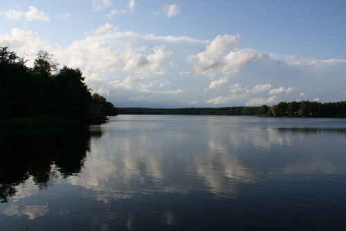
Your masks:
<svg viewBox="0 0 346 231"><path fill-rule="evenodd" d="M346 118L346 101L341 102L280 102L268 107L262 105L259 115L273 117L314 117L314 118Z"/></svg>

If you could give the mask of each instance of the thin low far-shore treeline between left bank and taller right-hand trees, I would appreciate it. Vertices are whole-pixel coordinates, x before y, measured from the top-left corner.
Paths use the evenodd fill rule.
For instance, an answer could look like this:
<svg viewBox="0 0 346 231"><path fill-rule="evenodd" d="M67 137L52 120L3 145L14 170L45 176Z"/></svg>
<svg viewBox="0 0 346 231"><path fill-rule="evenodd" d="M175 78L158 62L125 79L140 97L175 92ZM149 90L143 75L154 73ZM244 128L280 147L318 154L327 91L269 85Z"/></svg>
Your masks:
<svg viewBox="0 0 346 231"><path fill-rule="evenodd" d="M128 115L257 115L258 107L149 109L142 107L118 108Z"/></svg>

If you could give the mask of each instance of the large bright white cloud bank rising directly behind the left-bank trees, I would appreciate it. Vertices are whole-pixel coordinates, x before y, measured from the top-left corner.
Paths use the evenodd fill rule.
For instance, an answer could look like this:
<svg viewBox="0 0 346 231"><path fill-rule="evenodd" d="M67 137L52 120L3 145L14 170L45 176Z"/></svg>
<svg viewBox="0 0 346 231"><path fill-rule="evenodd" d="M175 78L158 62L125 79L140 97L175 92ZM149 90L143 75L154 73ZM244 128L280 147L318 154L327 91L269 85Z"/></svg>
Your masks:
<svg viewBox="0 0 346 231"><path fill-rule="evenodd" d="M30 30L15 28L10 34L0 34L3 46L9 46L18 54L25 50L30 55L29 66L33 64L38 50L48 50L60 64L80 68L86 76L86 83L99 93L109 93L111 88L131 89L131 82L121 80L124 75L155 77L167 73L167 68L175 68L170 59L173 53L166 46L146 47L143 44L179 43L179 46L184 46L205 42L190 37L120 32L117 26L108 23L66 47L51 44ZM164 84L161 82L161 85Z"/></svg>

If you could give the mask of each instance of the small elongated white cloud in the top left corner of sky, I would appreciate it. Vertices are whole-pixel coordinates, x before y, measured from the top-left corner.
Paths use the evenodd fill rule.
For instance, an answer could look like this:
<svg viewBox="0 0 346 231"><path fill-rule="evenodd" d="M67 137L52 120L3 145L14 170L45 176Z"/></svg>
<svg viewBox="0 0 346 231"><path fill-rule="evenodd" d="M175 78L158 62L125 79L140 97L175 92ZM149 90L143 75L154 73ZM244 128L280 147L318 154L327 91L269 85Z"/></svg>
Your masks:
<svg viewBox="0 0 346 231"><path fill-rule="evenodd" d="M25 21L51 21L49 15L37 10L35 6L29 6L29 10L26 12L10 9L7 12L4 12L3 15L12 21L18 21L21 19L24 19Z"/></svg>

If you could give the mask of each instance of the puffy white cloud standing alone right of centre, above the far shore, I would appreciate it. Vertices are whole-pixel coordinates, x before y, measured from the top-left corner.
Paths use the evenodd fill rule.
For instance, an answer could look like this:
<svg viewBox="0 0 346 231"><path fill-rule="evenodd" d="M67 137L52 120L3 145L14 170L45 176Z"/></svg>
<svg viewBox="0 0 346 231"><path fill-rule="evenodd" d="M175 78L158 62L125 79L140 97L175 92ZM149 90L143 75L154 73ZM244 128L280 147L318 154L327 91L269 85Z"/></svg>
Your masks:
<svg viewBox="0 0 346 231"><path fill-rule="evenodd" d="M188 57L194 66L192 73L208 77L229 77L239 72L242 67L265 57L253 49L235 50L239 39L239 35L217 35L205 51Z"/></svg>

